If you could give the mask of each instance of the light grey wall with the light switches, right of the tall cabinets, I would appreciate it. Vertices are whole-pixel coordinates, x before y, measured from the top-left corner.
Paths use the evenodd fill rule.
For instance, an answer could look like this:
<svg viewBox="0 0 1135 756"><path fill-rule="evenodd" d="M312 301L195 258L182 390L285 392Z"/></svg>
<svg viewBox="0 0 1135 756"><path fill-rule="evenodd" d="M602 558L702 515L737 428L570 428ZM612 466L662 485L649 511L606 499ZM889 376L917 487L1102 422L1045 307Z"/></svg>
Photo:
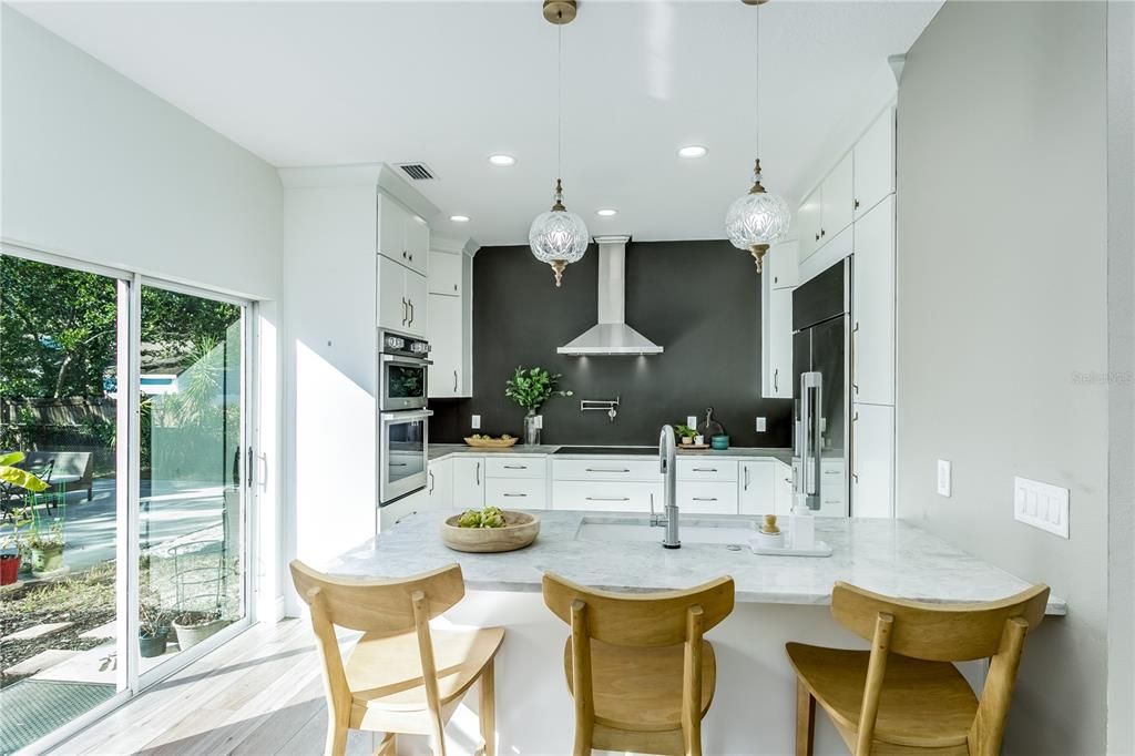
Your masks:
<svg viewBox="0 0 1135 756"><path fill-rule="evenodd" d="M1104 753L1105 26L951 0L899 89L898 514L1069 604L1025 647L1010 754ZM1070 490L1069 540L1014 521L1014 476Z"/></svg>

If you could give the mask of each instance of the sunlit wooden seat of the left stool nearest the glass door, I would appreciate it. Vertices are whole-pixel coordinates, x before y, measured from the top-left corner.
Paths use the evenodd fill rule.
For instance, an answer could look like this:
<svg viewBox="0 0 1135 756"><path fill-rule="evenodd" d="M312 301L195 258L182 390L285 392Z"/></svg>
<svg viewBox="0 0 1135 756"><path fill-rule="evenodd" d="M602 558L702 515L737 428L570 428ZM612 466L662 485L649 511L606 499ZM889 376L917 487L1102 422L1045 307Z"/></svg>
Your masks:
<svg viewBox="0 0 1135 756"><path fill-rule="evenodd" d="M461 698L496 656L503 628L430 628L443 706ZM344 664L353 706L423 712L429 704L418 635L368 632Z"/></svg>

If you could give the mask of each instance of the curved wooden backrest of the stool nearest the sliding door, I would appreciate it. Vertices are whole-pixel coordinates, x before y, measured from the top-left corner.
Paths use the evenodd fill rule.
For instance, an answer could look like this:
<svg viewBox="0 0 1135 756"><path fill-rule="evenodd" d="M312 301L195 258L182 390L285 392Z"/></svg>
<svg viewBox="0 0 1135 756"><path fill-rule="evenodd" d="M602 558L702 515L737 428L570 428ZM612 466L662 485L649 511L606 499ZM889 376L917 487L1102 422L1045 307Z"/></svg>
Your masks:
<svg viewBox="0 0 1135 756"><path fill-rule="evenodd" d="M327 619L342 628L364 632L406 632L415 627L414 594L427 599L428 620L447 611L465 595L461 566L451 564L432 572L386 580L333 576L295 560L292 580L310 606L312 589L323 597Z"/></svg>

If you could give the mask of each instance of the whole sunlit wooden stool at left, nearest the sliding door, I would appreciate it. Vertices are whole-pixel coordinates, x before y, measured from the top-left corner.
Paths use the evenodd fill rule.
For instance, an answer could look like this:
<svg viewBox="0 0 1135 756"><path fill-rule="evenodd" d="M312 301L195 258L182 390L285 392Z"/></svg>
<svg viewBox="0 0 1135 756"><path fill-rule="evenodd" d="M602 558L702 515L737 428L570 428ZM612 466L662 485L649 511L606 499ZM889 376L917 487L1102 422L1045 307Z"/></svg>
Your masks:
<svg viewBox="0 0 1135 756"><path fill-rule="evenodd" d="M347 730L385 732L379 754L395 753L394 733L426 734L445 756L445 723L480 679L486 756L496 750L493 660L503 628L436 629L429 621L465 595L461 566L402 580L345 578L292 562L292 579L311 606L327 688L327 748L343 754ZM335 627L362 630L344 663Z"/></svg>

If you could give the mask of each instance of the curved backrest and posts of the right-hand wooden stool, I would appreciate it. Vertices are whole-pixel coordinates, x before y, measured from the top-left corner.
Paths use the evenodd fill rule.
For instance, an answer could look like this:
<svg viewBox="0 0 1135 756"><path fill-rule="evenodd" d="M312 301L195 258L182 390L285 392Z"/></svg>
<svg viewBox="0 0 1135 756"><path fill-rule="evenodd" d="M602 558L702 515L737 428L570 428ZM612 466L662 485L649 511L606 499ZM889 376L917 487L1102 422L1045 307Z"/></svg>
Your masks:
<svg viewBox="0 0 1135 756"><path fill-rule="evenodd" d="M835 583L832 615L872 642L856 755L871 753L891 652L933 662L989 657L985 687L967 739L970 754L1000 753L1025 636L1040 624L1048 602L1049 587L1043 585L998 602L925 604L873 594L846 582Z"/></svg>

